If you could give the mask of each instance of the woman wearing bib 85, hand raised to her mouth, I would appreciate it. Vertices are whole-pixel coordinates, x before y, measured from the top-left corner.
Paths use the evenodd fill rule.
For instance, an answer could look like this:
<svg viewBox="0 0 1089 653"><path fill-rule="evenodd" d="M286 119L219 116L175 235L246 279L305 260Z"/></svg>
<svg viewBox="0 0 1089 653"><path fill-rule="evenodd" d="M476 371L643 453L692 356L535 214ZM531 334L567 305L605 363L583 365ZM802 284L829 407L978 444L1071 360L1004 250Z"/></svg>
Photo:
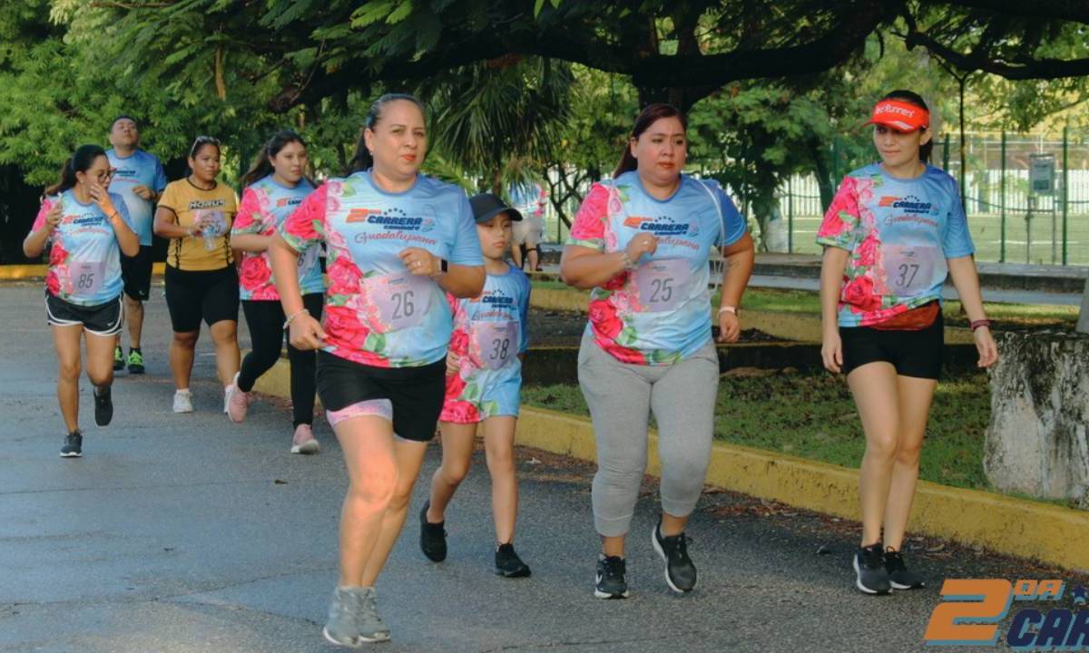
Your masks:
<svg viewBox="0 0 1089 653"><path fill-rule="evenodd" d="M113 418L113 347L124 322L121 254L135 256L139 237L120 196L107 192L110 161L97 145L81 146L46 188L41 209L23 242L28 258L47 243L46 321L60 362L57 398L68 428L61 456L83 455L79 431L79 338L87 347L87 378L95 386L95 423Z"/></svg>

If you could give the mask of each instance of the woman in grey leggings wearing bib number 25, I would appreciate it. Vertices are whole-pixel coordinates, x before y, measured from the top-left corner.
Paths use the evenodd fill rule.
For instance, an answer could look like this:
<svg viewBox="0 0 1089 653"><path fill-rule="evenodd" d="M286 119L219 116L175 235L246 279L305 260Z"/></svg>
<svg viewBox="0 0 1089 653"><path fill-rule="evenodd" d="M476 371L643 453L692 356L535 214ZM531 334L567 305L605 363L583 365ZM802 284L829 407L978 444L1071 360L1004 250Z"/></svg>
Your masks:
<svg viewBox="0 0 1089 653"><path fill-rule="evenodd" d="M696 587L684 527L707 473L719 384L708 262L721 248L726 266L715 322L722 341L736 341L752 239L719 184L681 173L685 127L668 104L643 111L612 181L595 184L579 207L560 264L565 282L590 289L578 383L597 440L599 599L627 596L624 542L647 466L651 410L662 459L662 515L651 543L673 591Z"/></svg>

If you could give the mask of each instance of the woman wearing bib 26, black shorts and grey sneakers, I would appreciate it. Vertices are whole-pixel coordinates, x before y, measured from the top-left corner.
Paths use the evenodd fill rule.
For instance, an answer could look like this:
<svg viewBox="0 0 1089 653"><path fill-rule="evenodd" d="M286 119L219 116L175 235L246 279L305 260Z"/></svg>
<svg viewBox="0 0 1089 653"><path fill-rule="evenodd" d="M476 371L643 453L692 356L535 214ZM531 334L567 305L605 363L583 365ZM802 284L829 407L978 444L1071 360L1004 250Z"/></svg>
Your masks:
<svg viewBox="0 0 1089 653"><path fill-rule="evenodd" d="M426 150L419 101L382 96L367 113L358 172L307 196L270 246L290 342L319 349L318 396L348 471L340 582L323 631L341 645L390 638L374 584L442 410L453 330L445 293L474 297L484 287L468 199L419 174ZM298 257L322 241L329 288L319 323L303 304Z"/></svg>

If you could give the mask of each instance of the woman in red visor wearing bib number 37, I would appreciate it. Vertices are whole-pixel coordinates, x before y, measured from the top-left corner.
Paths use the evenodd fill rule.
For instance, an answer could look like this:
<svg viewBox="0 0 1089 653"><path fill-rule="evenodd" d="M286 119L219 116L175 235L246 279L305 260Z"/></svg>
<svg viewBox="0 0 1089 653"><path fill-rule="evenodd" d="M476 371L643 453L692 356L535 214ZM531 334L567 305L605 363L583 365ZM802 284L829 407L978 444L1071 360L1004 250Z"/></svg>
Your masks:
<svg viewBox="0 0 1089 653"><path fill-rule="evenodd" d="M979 366L993 365L998 350L956 182L927 163L927 104L896 90L877 103L867 124L881 163L843 180L817 242L824 246L821 356L825 368L847 375L866 432L855 584L884 594L923 586L906 568L901 546L941 374L946 276L971 320Z"/></svg>

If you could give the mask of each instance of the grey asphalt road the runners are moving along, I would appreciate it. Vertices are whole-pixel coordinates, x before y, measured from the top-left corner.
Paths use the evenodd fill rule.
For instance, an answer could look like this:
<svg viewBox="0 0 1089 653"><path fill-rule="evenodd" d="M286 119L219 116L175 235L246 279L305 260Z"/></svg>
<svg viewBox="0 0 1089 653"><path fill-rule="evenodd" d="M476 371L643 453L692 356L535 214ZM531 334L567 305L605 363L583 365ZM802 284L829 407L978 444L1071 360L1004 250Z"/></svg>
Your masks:
<svg viewBox="0 0 1089 653"><path fill-rule="evenodd" d="M40 286L0 286L0 652L330 651L320 625L345 488L337 443L319 420L322 453L291 456L289 414L270 401L230 424L207 340L198 345L198 411L173 415L166 306L161 288L154 295L149 373L118 379L106 429L93 426L84 385L86 457L63 460ZM592 470L528 449L518 465L518 544L534 577L490 572L488 485L478 468L450 513L446 563L423 558L409 522L379 580L394 637L380 650L923 649L934 590L862 596L851 587L853 525L733 494L701 502L689 531L701 584L677 597L648 541L656 507L648 484L629 551L633 597L595 600ZM933 579L1053 572L932 540L913 544ZM821 545L831 553L818 555Z"/></svg>

